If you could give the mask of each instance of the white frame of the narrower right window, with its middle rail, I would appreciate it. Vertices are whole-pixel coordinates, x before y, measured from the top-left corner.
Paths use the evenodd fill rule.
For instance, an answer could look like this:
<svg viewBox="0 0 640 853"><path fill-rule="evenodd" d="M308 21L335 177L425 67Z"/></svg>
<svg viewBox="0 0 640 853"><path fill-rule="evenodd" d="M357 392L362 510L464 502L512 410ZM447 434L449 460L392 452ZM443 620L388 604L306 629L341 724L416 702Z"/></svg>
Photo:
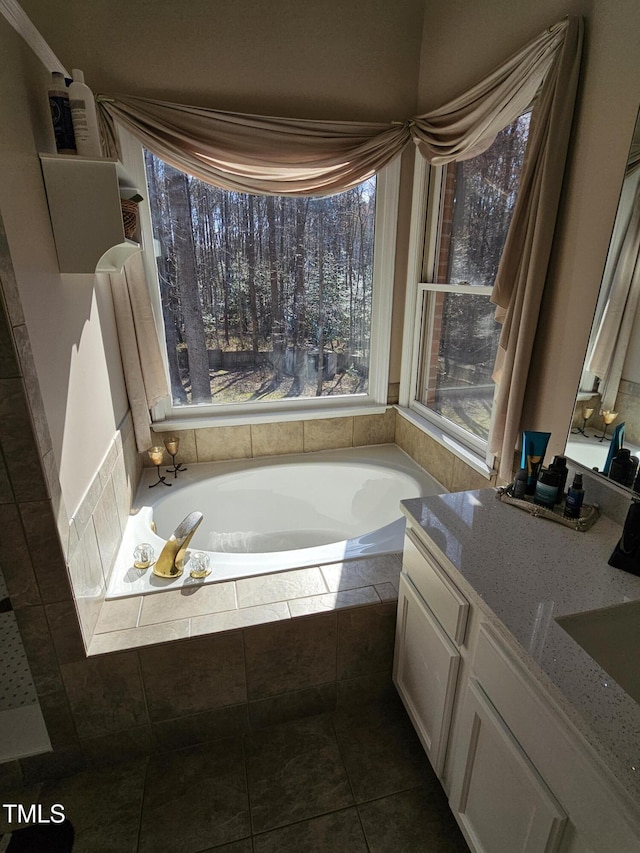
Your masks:
<svg viewBox="0 0 640 853"><path fill-rule="evenodd" d="M436 283L437 246L444 180L443 166L432 166L419 151L415 153L411 227L407 264L407 287L403 327L400 373L399 411L440 444L464 459L476 471L489 477L493 473L494 456L488 442L472 435L447 418L432 411L417 399L423 367L423 330L431 336L424 313L432 310L429 293L472 293L490 295L492 288L475 285Z"/></svg>

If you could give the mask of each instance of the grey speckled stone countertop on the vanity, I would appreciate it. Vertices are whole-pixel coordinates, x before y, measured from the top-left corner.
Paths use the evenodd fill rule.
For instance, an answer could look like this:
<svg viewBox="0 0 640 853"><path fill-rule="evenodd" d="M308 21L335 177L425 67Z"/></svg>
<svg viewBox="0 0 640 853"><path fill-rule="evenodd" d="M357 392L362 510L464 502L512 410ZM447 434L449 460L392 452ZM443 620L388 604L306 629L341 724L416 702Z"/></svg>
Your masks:
<svg viewBox="0 0 640 853"><path fill-rule="evenodd" d="M555 621L640 600L640 577L607 565L621 527L602 516L587 532L571 530L502 503L495 489L414 498L402 509L638 802L640 704Z"/></svg>

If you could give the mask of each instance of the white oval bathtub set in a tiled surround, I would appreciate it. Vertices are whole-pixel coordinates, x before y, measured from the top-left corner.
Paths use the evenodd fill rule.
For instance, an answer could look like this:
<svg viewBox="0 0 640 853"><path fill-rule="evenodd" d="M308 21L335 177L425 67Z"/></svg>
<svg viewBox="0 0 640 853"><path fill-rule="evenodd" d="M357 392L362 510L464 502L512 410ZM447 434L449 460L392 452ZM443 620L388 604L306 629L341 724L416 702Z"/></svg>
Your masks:
<svg viewBox="0 0 640 853"><path fill-rule="evenodd" d="M399 502L446 491L395 445L189 464L165 476L170 488L149 488L156 469L143 472L107 598L401 551ZM203 521L189 551L209 553L207 578L191 578L188 562L178 578L134 568L137 544L158 556L194 510Z"/></svg>

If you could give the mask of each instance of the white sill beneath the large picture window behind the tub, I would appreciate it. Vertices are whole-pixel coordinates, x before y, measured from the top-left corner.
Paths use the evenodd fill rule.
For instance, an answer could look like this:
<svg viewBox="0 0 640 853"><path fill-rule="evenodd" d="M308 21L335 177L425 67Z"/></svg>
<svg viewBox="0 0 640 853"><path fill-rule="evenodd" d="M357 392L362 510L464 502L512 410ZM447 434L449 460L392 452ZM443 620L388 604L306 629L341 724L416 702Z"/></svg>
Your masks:
<svg viewBox="0 0 640 853"><path fill-rule="evenodd" d="M268 410L237 412L233 414L215 414L210 411L202 414L174 415L152 423L154 432L171 432L179 429L208 429L221 426L244 426L247 424L269 424L292 421L321 420L327 418L350 418L357 415L383 415L390 408L385 403L367 402L362 405L327 406L289 410Z"/></svg>

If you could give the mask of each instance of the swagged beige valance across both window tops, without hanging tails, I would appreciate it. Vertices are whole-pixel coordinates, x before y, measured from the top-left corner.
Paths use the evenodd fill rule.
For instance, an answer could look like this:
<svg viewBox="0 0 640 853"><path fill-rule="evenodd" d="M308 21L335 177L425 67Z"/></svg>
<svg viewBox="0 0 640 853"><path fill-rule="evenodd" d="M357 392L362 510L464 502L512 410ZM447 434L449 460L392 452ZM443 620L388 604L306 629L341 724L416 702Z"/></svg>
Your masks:
<svg viewBox="0 0 640 853"><path fill-rule="evenodd" d="M411 140L434 164L486 150L532 103L572 26L575 19L561 21L464 95L401 122L276 118L101 95L102 134L117 156L116 122L167 163L223 189L330 195L357 186Z"/></svg>

